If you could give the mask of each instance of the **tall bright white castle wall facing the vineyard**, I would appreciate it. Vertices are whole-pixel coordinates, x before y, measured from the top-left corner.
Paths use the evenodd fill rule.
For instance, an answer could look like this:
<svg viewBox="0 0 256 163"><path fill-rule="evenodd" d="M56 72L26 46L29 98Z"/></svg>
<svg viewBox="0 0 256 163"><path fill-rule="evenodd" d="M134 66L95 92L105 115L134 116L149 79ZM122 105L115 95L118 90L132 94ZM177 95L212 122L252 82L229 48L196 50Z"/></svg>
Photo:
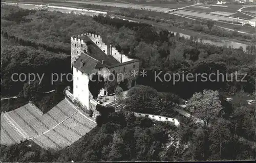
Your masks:
<svg viewBox="0 0 256 163"><path fill-rule="evenodd" d="M89 76L73 67L73 96L89 109Z"/></svg>

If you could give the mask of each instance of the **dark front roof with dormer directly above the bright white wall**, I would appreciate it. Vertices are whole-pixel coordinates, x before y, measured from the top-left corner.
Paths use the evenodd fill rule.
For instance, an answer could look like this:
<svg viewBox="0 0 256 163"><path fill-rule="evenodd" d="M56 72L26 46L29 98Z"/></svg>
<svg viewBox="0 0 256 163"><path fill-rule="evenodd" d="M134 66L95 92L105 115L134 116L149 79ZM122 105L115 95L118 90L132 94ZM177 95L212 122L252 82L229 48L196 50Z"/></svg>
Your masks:
<svg viewBox="0 0 256 163"><path fill-rule="evenodd" d="M83 66L81 67L81 61L83 62ZM73 67L78 69L79 71L87 74L95 73L95 68L106 67L99 61L94 58L86 55L85 53L81 53L79 58L74 62Z"/></svg>

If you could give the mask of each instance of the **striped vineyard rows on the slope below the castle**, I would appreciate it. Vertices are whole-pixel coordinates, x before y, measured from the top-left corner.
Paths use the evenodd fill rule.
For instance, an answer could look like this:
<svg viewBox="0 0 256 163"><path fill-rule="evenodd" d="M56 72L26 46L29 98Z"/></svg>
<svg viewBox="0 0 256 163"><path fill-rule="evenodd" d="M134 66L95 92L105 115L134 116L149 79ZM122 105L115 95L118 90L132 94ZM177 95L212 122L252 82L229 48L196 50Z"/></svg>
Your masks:
<svg viewBox="0 0 256 163"><path fill-rule="evenodd" d="M1 144L32 139L41 147L60 149L95 126L95 122L78 112L66 99L44 115L28 103L1 115Z"/></svg>

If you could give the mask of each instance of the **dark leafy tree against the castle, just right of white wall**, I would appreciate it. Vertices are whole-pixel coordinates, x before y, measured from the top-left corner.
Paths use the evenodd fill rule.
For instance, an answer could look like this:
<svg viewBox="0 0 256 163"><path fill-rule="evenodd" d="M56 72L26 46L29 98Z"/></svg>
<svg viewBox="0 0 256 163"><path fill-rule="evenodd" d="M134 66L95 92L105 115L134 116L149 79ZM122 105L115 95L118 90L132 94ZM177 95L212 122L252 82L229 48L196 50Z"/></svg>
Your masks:
<svg viewBox="0 0 256 163"><path fill-rule="evenodd" d="M104 78L101 74L94 74L89 80L89 91L92 93L93 98L98 97L99 91L104 88Z"/></svg>

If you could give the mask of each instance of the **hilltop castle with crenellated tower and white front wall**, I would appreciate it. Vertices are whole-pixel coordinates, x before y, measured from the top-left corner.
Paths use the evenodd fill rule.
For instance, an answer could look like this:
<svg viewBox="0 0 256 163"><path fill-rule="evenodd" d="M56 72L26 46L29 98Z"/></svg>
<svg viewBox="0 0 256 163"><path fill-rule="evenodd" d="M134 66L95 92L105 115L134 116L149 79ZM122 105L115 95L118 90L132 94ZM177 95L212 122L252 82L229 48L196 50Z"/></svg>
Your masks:
<svg viewBox="0 0 256 163"><path fill-rule="evenodd" d="M95 101L89 91L91 74L101 74L104 78L111 74L122 74L117 82L127 81L127 88L134 87L136 77L132 71L139 71L139 60L130 59L112 47L112 43L105 44L99 35L85 33L71 37L71 68L73 68L73 95L72 100L91 107ZM98 96L108 95L107 88L100 90Z"/></svg>

